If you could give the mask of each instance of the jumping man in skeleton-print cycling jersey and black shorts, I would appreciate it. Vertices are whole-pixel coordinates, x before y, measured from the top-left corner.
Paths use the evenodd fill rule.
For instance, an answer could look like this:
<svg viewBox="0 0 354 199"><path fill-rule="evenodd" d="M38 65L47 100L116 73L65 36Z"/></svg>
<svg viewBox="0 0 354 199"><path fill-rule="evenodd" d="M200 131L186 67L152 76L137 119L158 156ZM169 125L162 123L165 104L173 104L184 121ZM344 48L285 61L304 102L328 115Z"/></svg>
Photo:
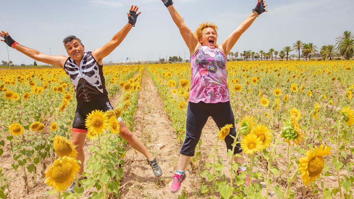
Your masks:
<svg viewBox="0 0 354 199"><path fill-rule="evenodd" d="M78 152L78 160L81 161L80 171L77 173L81 177L84 171L84 150L83 145L86 138L87 128L85 126L86 115L92 112L92 110L113 110L109 99L108 92L105 88L105 80L103 76L102 59L108 56L129 33L130 29L135 26L137 17L141 12L137 13L138 7L131 6L128 15L128 23L115 34L106 45L94 50L93 52L84 52L85 46L79 38L74 35L69 35L63 40L64 47L69 55L63 56L50 56L45 55L38 50L30 49L17 41L13 40L11 36L4 31L1 31L0 36L8 46L22 52L23 54L47 64L60 66L69 75L70 80L74 85L76 92L76 100L78 102L75 112L75 118L73 121L72 137L73 144ZM152 154L144 146L144 144L135 136L124 124L121 118L118 118L120 124L119 135L127 140L130 145L138 152L145 155L148 164L152 167L155 176L161 176L162 170L153 158ZM73 191L75 187L75 181L68 188L67 191Z"/></svg>

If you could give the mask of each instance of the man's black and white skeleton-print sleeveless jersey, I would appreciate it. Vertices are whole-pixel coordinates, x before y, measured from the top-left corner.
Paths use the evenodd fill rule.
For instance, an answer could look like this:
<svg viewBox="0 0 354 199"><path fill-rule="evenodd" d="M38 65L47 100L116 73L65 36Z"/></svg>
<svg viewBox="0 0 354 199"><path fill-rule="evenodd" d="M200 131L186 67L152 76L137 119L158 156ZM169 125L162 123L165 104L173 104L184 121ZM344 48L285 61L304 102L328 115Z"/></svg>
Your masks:
<svg viewBox="0 0 354 199"><path fill-rule="evenodd" d="M78 102L90 102L108 95L103 66L96 62L91 53L84 53L80 66L77 66L70 57L65 62L64 70L74 85Z"/></svg>

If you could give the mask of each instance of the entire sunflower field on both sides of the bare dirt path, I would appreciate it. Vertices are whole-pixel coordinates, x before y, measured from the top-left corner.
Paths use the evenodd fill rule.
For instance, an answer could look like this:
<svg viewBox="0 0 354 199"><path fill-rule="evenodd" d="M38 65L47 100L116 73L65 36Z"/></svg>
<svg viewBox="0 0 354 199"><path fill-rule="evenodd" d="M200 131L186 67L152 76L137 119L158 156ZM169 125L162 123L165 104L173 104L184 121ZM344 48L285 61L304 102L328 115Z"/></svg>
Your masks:
<svg viewBox="0 0 354 199"><path fill-rule="evenodd" d="M200 139L191 159L202 179L199 197L353 198L353 67L354 61L228 62L236 126L216 132L207 151ZM95 110L87 117L91 156L74 193L64 192L73 181L79 184L75 173L80 169L70 141L76 99L67 74L57 68L1 71L0 159L11 157L11 169L22 175L25 193L45 184L46 194L55 198L80 198L87 190L91 198L119 197L127 142L118 135L116 118L133 131L144 68L164 101L176 144L183 143L190 63L104 67L115 109ZM230 128L236 129L247 163L241 174L235 172L239 165L233 151L226 159L220 157L225 152L218 142ZM237 143L235 139L233 149ZM201 161L203 154L207 161ZM0 198L11 197L9 184L0 169Z"/></svg>

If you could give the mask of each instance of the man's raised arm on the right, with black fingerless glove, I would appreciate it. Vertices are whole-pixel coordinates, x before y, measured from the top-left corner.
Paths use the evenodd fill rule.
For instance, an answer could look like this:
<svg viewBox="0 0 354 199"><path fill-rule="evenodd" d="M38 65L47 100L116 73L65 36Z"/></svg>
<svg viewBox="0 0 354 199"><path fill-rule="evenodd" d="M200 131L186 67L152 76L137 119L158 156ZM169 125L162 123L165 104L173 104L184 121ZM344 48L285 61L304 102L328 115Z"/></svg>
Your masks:
<svg viewBox="0 0 354 199"><path fill-rule="evenodd" d="M117 46L119 46L119 44L129 33L130 29L135 26L136 19L141 13L137 13L138 9L139 7L137 6L131 6L129 13L127 13L128 23L117 34L115 34L112 40L110 40L106 45L92 52L93 57L95 57L98 63L102 63L102 59L108 56Z"/></svg>

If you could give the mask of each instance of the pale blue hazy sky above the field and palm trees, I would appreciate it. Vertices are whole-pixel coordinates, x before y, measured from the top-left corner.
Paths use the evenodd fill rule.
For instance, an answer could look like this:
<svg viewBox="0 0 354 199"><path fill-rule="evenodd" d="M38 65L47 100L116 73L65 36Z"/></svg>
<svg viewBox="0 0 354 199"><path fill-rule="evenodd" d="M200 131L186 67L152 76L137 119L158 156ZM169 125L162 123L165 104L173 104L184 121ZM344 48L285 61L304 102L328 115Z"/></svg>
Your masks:
<svg viewBox="0 0 354 199"><path fill-rule="evenodd" d="M252 12L257 0L174 0L176 10L194 32L199 23L218 25L221 44ZM296 40L313 42L318 47L335 44L344 30L354 32L353 0L268 0L263 13L241 36L232 51L275 50ZM138 5L138 17L125 40L112 52L113 61L125 57L145 61L173 55L189 56L178 28L160 0L1 0L0 29L19 44L52 55L67 55L62 44L67 35L78 36L92 51L107 43L126 23L130 5ZM7 61L4 42L0 61ZM33 59L9 48L14 64L32 64ZM153 52L153 53L151 53ZM292 52L295 54L295 52ZM103 59L110 61L110 56Z"/></svg>

